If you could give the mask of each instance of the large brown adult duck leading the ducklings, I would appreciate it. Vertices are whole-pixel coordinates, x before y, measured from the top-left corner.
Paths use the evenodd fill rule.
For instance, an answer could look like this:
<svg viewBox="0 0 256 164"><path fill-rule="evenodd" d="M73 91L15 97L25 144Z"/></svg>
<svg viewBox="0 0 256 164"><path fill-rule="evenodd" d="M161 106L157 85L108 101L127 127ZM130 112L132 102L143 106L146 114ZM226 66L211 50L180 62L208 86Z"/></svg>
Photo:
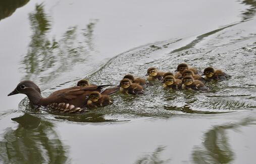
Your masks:
<svg viewBox="0 0 256 164"><path fill-rule="evenodd" d="M33 105L45 106L60 113L80 113L85 111L85 100L90 93L93 91L101 92L108 86L111 85L71 87L55 91L47 98L43 98L38 86L33 81L25 80L21 81L8 96L25 94ZM106 89L101 94L109 95L119 91L119 89L120 87Z"/></svg>

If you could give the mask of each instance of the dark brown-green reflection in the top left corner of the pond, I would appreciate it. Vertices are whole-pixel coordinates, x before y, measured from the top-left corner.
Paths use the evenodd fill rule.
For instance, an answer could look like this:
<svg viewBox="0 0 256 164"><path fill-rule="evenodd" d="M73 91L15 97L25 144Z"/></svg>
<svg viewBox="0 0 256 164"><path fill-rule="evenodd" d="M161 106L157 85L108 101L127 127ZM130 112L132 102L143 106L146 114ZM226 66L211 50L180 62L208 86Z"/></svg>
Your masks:
<svg viewBox="0 0 256 164"><path fill-rule="evenodd" d="M0 20L10 17L18 8L23 7L29 0L0 1Z"/></svg>

